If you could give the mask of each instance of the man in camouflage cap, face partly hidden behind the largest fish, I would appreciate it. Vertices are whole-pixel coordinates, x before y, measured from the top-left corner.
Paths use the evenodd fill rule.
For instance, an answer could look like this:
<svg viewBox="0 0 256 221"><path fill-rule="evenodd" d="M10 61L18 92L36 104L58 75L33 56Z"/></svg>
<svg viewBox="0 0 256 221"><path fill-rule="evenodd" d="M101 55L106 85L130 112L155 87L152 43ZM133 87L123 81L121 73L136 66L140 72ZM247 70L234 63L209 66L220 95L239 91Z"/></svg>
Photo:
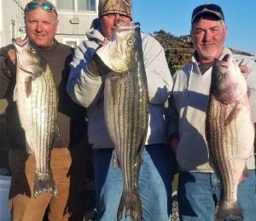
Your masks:
<svg viewBox="0 0 256 221"><path fill-rule="evenodd" d="M113 167L113 142L105 123L102 94L109 69L94 56L96 48L113 36L117 23L131 23L130 0L100 0L99 19L94 20L75 50L67 91L74 101L88 107L88 136L93 144L97 220L117 220L123 190L122 172ZM160 43L142 33L143 58L148 78L149 123L138 189L143 220L168 221L172 212L172 167L166 139L165 101L172 88L172 77ZM127 210L129 208L126 207ZM121 220L131 220L125 218Z"/></svg>

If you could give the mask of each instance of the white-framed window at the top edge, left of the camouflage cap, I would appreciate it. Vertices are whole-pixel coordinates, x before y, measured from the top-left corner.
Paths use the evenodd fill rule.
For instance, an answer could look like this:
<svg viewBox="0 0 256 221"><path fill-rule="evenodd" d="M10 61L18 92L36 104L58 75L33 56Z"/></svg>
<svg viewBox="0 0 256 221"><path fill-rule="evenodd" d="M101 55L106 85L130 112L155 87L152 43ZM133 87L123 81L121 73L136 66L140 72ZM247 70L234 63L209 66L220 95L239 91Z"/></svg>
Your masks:
<svg viewBox="0 0 256 221"><path fill-rule="evenodd" d="M96 0L56 0L56 8L65 11L96 11Z"/></svg>

